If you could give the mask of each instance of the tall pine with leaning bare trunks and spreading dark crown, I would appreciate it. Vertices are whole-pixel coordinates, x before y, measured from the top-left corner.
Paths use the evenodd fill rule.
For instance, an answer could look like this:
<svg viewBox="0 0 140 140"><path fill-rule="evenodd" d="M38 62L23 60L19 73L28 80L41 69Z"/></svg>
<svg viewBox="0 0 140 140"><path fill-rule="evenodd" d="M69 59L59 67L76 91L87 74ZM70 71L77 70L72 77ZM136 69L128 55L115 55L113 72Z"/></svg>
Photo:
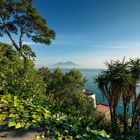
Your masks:
<svg viewBox="0 0 140 140"><path fill-rule="evenodd" d="M0 4L0 36L6 34L25 58L31 50L27 51L23 44L24 36L36 43L48 45L55 38L55 32L47 27L46 20L33 7L33 2L34 0L1 0ZM17 41L14 35L18 36Z"/></svg>

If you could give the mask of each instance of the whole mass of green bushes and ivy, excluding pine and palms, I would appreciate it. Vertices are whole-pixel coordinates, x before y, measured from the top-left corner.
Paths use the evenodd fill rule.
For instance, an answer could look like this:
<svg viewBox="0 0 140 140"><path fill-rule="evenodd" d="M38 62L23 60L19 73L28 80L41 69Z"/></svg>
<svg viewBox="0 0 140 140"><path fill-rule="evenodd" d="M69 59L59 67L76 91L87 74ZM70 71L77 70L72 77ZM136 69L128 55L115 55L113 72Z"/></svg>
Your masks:
<svg viewBox="0 0 140 140"><path fill-rule="evenodd" d="M110 138L97 125L105 123L83 93L86 80L79 71L36 71L33 61L21 59L12 46L1 43L0 50L1 125L35 128L40 139Z"/></svg>

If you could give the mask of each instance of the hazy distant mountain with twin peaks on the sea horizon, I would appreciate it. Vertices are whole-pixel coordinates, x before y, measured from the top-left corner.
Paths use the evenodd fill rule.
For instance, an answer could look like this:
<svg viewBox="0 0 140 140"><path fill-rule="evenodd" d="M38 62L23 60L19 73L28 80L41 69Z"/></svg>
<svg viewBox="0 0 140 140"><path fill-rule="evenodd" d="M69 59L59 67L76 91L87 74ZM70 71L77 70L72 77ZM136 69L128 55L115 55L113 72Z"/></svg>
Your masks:
<svg viewBox="0 0 140 140"><path fill-rule="evenodd" d="M52 65L51 67L59 67L59 68L77 68L79 67L78 64L75 64L72 61L67 61L67 62L58 62L54 65Z"/></svg>

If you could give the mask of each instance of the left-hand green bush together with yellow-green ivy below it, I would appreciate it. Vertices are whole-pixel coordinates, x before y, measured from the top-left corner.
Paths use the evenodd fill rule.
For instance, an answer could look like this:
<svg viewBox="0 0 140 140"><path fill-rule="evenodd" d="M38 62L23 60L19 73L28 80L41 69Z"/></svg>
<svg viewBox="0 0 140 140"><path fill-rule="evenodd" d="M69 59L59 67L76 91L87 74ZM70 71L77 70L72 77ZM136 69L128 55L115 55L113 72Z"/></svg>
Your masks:
<svg viewBox="0 0 140 140"><path fill-rule="evenodd" d="M47 112L45 85L36 75L33 62L20 59L10 45L1 43L0 49L1 119L16 128L42 121Z"/></svg>

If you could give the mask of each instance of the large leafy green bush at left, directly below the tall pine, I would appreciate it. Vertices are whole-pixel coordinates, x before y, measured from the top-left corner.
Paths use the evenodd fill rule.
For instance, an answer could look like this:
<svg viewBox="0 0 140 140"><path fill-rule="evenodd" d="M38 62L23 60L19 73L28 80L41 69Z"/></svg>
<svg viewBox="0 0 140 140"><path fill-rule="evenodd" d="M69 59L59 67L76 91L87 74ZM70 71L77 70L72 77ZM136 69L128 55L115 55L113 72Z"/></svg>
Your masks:
<svg viewBox="0 0 140 140"><path fill-rule="evenodd" d="M44 93L44 82L36 74L33 62L28 59L26 67L24 63L11 45L0 44L0 93L19 95L24 99Z"/></svg>

